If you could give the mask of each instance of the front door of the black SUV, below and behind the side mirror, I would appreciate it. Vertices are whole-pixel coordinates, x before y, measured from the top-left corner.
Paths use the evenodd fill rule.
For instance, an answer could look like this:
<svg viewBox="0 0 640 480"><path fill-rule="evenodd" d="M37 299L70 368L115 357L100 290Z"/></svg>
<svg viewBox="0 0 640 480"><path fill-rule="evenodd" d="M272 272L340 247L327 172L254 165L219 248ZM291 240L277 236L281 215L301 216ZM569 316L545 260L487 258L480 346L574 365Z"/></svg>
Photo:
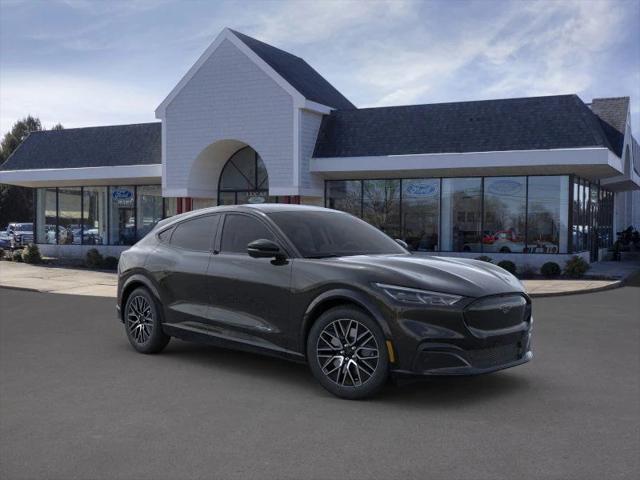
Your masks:
<svg viewBox="0 0 640 480"><path fill-rule="evenodd" d="M293 345L287 336L291 261L250 257L247 244L261 238L283 245L258 216L225 214L219 246L209 262L212 318L234 340L288 350Z"/></svg>

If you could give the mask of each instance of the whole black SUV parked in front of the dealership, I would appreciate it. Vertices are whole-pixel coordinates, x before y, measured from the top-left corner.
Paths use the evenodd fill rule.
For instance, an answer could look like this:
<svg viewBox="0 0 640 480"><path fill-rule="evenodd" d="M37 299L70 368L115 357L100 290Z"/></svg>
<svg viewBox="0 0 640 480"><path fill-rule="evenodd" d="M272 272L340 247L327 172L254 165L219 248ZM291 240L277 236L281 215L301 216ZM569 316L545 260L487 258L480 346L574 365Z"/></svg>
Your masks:
<svg viewBox="0 0 640 480"><path fill-rule="evenodd" d="M531 300L496 265L418 257L347 213L215 207L161 221L122 253L131 345L175 336L306 362L344 398L389 375L470 375L529 361Z"/></svg>

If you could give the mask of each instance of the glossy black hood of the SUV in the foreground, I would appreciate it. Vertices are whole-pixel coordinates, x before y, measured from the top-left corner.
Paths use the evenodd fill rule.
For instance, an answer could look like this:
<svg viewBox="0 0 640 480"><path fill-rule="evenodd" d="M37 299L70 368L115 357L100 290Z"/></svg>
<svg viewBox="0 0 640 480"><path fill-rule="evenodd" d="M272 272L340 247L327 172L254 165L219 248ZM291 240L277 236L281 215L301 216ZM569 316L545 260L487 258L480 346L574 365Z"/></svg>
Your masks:
<svg viewBox="0 0 640 480"><path fill-rule="evenodd" d="M372 279L381 283L422 288L466 297L524 292L520 281L488 262L463 258L417 255L358 255L336 261L378 270Z"/></svg>

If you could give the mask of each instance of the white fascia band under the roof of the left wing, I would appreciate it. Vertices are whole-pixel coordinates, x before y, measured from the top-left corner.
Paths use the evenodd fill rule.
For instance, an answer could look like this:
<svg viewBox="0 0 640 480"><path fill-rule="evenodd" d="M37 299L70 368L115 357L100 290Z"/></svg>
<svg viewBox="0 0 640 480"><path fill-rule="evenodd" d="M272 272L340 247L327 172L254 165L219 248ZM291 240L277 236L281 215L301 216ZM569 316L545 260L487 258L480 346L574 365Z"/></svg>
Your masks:
<svg viewBox="0 0 640 480"><path fill-rule="evenodd" d="M162 165L0 170L0 183L24 187L160 183Z"/></svg>

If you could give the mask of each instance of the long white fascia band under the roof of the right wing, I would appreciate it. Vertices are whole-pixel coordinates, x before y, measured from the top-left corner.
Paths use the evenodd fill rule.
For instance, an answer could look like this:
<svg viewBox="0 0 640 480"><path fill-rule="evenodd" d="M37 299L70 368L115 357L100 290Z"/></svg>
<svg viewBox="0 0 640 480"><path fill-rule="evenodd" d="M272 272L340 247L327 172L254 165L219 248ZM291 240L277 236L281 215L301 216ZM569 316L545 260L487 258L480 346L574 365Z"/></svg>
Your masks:
<svg viewBox="0 0 640 480"><path fill-rule="evenodd" d="M576 166L610 167L609 175L622 169L622 161L607 148L511 150L498 152L429 153L370 157L312 158L310 171L324 174L384 173L399 171L458 170ZM609 169L606 169L608 172Z"/></svg>

